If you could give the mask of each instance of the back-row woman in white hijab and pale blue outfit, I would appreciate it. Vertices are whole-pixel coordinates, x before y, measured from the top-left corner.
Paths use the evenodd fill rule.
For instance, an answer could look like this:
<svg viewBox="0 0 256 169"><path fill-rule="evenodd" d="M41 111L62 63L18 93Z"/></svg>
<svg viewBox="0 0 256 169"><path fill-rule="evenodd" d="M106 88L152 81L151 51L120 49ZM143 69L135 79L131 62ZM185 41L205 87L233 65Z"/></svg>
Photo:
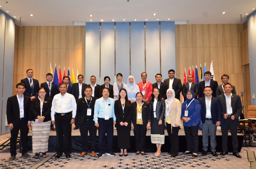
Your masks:
<svg viewBox="0 0 256 169"><path fill-rule="evenodd" d="M135 83L135 79L133 76L129 76L127 80L127 84L124 86L124 89L127 91L128 100L131 103L136 101L136 94L140 92L139 86Z"/></svg>

